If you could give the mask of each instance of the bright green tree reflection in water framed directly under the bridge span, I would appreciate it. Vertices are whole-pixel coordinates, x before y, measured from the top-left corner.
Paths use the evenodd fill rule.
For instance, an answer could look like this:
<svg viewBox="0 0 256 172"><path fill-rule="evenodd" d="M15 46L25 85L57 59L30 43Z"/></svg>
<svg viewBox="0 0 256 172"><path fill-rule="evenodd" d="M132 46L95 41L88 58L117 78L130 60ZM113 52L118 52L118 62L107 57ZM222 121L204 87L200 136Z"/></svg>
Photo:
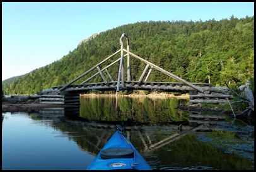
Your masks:
<svg viewBox="0 0 256 172"><path fill-rule="evenodd" d="M80 98L80 117L101 122L162 123L189 120L189 113L179 110L185 99L120 96Z"/></svg>

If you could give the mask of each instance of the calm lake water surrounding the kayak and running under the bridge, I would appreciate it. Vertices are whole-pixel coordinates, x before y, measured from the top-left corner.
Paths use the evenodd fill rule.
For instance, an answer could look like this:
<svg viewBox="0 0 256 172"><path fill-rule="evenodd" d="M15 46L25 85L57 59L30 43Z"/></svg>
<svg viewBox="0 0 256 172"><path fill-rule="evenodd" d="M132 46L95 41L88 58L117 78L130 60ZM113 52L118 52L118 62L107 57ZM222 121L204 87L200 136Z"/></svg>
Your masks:
<svg viewBox="0 0 256 172"><path fill-rule="evenodd" d="M153 169L254 169L254 126L226 119L193 131L176 108L186 101L84 97L74 109L2 113L2 169L86 169L115 123Z"/></svg>

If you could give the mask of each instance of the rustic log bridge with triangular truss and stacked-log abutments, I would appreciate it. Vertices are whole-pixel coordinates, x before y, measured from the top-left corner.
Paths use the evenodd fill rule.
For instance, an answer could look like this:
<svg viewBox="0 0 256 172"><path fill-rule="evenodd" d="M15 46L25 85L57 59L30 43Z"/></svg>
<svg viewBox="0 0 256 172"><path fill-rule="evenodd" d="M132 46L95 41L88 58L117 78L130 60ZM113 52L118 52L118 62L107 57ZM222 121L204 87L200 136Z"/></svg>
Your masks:
<svg viewBox="0 0 256 172"><path fill-rule="evenodd" d="M124 49L124 37L127 40L127 49ZM126 53L126 54L124 54ZM120 54L119 58L113 61L113 57ZM125 58L126 57L126 58ZM130 57L135 57L141 62L146 64L144 71L139 77L139 80L132 81L131 76L131 63ZM110 63L108 60L112 60ZM126 60L126 61L125 61ZM108 61L108 62L107 62ZM114 81L112 75L108 71L109 67L119 62L119 72L116 80ZM104 63L108 65L102 67ZM125 66L127 64L127 79L125 80ZM166 82L153 82L148 81L149 75L156 69L167 76L176 79L177 83L166 83ZM96 71L94 74L89 75L90 72ZM106 74L106 75L104 75ZM102 77L101 83L89 83L91 79L96 76ZM81 78L85 78L80 84L74 84ZM108 79L107 79L108 78ZM80 80L79 80L80 81ZM148 90L148 91L165 91L165 92L180 92L189 93L190 104L193 103L224 103L228 99L233 98L227 87L212 87L209 83L189 83L184 79L175 76L171 72L156 66L155 64L133 54L129 51L129 38L123 33L120 37L120 50L107 57L102 62L91 67L88 71L78 76L76 79L67 83L64 86L54 86L51 89L44 89L43 94L40 96L40 103L51 103L51 104L78 104L79 94L88 93L92 91L133 91L133 90Z"/></svg>

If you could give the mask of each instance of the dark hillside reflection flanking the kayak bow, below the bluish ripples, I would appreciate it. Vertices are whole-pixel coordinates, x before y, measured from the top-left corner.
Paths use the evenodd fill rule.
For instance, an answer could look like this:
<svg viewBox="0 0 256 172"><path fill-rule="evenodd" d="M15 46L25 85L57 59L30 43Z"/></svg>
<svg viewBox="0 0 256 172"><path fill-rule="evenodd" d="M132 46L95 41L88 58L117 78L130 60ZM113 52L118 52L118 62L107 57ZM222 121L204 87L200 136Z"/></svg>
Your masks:
<svg viewBox="0 0 256 172"><path fill-rule="evenodd" d="M74 123L67 120L65 124L55 123L55 126L64 132L69 132L69 137L75 140L81 149L96 156L115 132L115 127L114 125L94 127L88 124L88 122ZM65 125L69 127L64 127ZM172 128L170 125L125 127L125 134L153 169L252 169L253 163L249 159L241 158L238 154L227 154L211 142L198 139L198 135L202 132L190 130L178 132L176 127ZM209 136L204 136L207 137Z"/></svg>

